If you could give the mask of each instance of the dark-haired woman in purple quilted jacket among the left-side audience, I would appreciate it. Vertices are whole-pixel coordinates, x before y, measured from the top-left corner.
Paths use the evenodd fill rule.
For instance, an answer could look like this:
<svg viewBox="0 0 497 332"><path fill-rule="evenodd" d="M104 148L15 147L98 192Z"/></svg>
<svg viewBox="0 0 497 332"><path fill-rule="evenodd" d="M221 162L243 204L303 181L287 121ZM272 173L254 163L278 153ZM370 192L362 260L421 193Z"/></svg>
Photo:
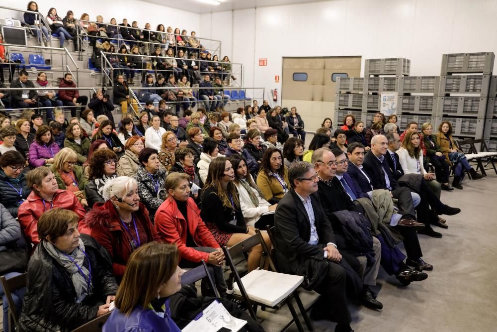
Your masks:
<svg viewBox="0 0 497 332"><path fill-rule="evenodd" d="M53 164L54 157L59 151L60 147L55 143L50 127L42 125L36 131L35 140L29 146L29 165L35 168Z"/></svg>

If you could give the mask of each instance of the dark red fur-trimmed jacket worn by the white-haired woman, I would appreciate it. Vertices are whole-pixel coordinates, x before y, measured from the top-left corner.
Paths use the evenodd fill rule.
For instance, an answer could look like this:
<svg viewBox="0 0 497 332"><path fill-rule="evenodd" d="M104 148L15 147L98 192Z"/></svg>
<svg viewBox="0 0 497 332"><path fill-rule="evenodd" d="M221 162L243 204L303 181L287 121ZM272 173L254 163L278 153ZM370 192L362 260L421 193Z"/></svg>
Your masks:
<svg viewBox="0 0 497 332"><path fill-rule="evenodd" d="M139 228L140 242L145 244L154 240L161 242L150 221L149 212L142 203L139 203L138 212L134 213ZM141 229L140 229L141 228ZM80 233L91 235L100 243L112 257L112 268L115 276L122 276L126 263L131 255L131 245L126 237L125 228L120 222L116 208L109 200L105 203L95 203L93 209L80 222ZM142 231L140 231L142 230ZM133 236L135 230L131 230ZM144 233L147 239L144 241Z"/></svg>

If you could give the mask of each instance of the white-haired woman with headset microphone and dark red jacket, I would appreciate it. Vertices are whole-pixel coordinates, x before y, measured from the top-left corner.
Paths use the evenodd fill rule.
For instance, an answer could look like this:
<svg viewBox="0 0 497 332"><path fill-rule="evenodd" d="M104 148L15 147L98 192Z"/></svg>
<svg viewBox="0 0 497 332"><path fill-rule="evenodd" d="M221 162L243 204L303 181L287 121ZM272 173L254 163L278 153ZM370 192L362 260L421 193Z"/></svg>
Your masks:
<svg viewBox="0 0 497 332"><path fill-rule="evenodd" d="M140 202L135 179L120 176L103 188L105 203L96 203L78 230L91 235L109 253L114 276L120 280L129 256L141 245L160 240L149 213Z"/></svg>

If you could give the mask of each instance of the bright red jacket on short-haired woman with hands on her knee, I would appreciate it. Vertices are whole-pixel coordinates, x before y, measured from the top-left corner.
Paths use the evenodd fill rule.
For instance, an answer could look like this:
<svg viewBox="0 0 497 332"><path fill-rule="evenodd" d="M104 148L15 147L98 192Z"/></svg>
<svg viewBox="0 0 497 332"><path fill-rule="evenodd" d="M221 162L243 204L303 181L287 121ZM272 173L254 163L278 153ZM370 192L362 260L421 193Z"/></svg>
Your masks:
<svg viewBox="0 0 497 332"><path fill-rule="evenodd" d="M200 218L200 210L191 197L186 201L186 211L188 225L179 212L176 201L172 197L168 197L157 209L155 215L157 233L164 241L176 243L180 258L194 263L198 263L202 259L207 262L209 259L207 252L201 252L186 246L187 228L197 246L217 249L220 248L220 245L214 239L202 218Z"/></svg>

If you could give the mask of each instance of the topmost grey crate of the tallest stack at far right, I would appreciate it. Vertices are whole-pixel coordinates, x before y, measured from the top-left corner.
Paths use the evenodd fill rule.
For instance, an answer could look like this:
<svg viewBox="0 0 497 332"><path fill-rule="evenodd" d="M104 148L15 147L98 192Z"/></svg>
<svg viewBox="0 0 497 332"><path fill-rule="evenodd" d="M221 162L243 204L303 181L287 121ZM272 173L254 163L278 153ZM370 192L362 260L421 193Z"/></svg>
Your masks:
<svg viewBox="0 0 497 332"><path fill-rule="evenodd" d="M494 59L494 52L443 54L440 75L453 73L491 75L494 70Z"/></svg>

